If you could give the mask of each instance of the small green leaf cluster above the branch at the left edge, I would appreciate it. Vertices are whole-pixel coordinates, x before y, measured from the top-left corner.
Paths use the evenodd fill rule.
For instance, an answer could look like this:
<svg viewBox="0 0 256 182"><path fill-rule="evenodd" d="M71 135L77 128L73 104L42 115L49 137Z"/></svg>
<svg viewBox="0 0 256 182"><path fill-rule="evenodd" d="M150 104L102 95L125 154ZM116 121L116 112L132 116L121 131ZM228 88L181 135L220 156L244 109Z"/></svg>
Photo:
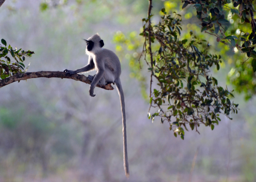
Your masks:
<svg viewBox="0 0 256 182"><path fill-rule="evenodd" d="M30 50L24 51L17 48L13 50L11 45L8 45L7 47L7 43L4 39L1 40L1 43L4 46L0 44L0 78L5 79L16 73L25 72L25 65L23 64L25 61L25 56L31 57L34 52ZM10 53L11 56L15 59L15 62L11 61L8 53ZM5 60L3 58L5 58Z"/></svg>

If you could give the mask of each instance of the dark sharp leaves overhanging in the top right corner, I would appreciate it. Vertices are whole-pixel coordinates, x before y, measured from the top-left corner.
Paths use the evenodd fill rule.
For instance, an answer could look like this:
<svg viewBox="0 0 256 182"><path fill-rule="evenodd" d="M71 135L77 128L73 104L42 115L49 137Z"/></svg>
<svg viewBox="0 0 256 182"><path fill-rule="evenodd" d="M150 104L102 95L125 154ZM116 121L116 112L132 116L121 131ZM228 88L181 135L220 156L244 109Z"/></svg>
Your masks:
<svg viewBox="0 0 256 182"><path fill-rule="evenodd" d="M246 53L247 57L252 57L252 69L256 71L256 23L254 19L254 5L252 0L185 0L183 1L182 8L185 8L188 4L193 4L196 8L196 17L201 21L201 31L215 35L218 42L222 42L230 47L236 47L241 53ZM239 7L238 7L239 6ZM238 9L236 8L238 7ZM226 35L228 26L233 16L239 16L241 23L249 23L251 26L251 33L245 32L240 34L240 37L236 35ZM247 26L247 25L245 25Z"/></svg>

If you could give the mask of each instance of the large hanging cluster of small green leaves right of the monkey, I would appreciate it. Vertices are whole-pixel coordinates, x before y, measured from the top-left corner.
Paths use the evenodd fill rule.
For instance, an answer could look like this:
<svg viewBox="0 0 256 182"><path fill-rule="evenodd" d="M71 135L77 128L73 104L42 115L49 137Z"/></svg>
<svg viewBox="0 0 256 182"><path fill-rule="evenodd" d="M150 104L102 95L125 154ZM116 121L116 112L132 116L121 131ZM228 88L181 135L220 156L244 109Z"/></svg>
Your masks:
<svg viewBox="0 0 256 182"><path fill-rule="evenodd" d="M140 35L145 37L145 61L159 86L150 98L150 107L158 110L148 113L148 117L154 120L160 116L162 123L168 121L175 136L178 134L184 139L184 128L188 130L188 125L191 130L197 131L200 124L213 130L214 124L218 125L221 120L219 114L237 113L238 104L232 103L229 98L233 94L218 86L217 79L209 75L211 66L220 69L221 56L209 54L209 43L193 36L192 31L190 40L180 40L180 15L173 18L164 8L162 12L164 15L155 26L148 25L152 15L142 19ZM158 50L152 50L153 54L151 43L160 43Z"/></svg>

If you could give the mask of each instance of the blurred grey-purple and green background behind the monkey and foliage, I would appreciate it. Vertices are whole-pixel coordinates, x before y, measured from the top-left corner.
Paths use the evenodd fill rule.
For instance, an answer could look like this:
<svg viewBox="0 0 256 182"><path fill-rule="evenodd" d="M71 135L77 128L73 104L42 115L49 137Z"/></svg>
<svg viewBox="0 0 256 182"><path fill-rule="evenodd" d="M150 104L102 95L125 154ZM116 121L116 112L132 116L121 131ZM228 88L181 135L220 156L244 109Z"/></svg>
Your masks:
<svg viewBox="0 0 256 182"><path fill-rule="evenodd" d="M180 11L181 6L180 1L153 1L154 21L159 20L162 7ZM142 50L138 34L147 9L146 0L4 2L0 7L0 38L12 47L35 52L24 62L26 66L30 62L29 72L81 68L88 61L82 38L95 33L100 34L105 48L119 56L130 179L123 169L116 89L95 88L96 96L90 97L88 84L37 78L0 89L0 182L256 181L255 97L245 101L243 93L235 92L234 102L240 110L231 116L233 120L223 116L213 131L200 127L200 134L186 132L184 140L174 137L168 123L161 124L159 119L152 123L147 118L148 72L145 66L142 70L136 67ZM192 29L214 45L215 39L201 35L200 27L195 26L196 18L189 19L193 13L193 9L180 12L184 36ZM120 37L135 37L137 42L120 43ZM213 46L212 51L230 52L220 46ZM229 58L221 70L213 70L219 85L227 84L223 78L235 64L230 61L234 54L224 55ZM146 77L136 76L138 70ZM232 85L228 87L232 89Z"/></svg>

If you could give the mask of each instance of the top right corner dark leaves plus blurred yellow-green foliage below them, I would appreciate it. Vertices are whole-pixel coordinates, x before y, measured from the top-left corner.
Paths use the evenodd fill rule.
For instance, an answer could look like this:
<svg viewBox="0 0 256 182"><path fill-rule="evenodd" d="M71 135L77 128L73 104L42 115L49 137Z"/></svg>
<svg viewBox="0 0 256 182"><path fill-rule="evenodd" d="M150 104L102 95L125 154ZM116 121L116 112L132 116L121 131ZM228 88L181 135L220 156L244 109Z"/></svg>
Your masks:
<svg viewBox="0 0 256 182"><path fill-rule="evenodd" d="M244 61L234 61L228 81L235 90L245 93L245 99L256 93L256 23L254 1L248 0L185 0L185 8L191 4L196 17L201 21L201 31L216 36L218 42L239 50L245 56L236 56ZM233 24L230 27L230 24ZM240 32L238 33L237 30ZM251 69L251 70L250 70Z"/></svg>

